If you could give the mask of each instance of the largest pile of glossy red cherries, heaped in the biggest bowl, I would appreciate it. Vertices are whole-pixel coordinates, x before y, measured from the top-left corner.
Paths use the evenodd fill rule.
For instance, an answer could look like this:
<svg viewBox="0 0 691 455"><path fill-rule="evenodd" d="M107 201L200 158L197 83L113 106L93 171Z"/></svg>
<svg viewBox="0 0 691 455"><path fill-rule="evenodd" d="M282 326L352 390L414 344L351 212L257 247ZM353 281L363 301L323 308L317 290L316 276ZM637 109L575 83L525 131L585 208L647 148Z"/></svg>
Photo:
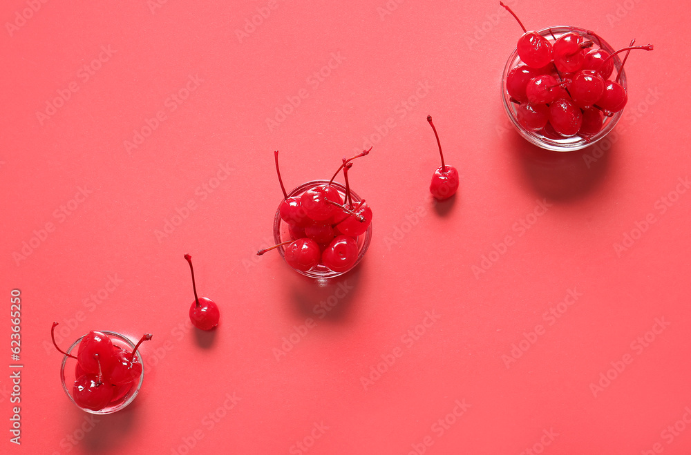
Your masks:
<svg viewBox="0 0 691 455"><path fill-rule="evenodd" d="M621 64L614 79L614 55L632 49L652 50L653 46L629 46L609 54L599 37L597 43L577 32L567 32L553 41L538 32L524 31L518 39L521 64L507 75L507 91L518 104L516 119L526 130L562 139L579 135L588 139L603 128L604 118L626 106L627 94L619 84ZM633 41L632 41L633 45ZM624 58L626 61L626 57Z"/></svg>

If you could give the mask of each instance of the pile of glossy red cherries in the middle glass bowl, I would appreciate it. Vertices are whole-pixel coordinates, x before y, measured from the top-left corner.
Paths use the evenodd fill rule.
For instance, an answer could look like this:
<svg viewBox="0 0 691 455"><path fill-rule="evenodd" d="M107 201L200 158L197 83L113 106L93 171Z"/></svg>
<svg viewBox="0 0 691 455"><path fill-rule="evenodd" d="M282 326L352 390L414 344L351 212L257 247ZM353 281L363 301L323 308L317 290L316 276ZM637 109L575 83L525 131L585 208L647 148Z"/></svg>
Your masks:
<svg viewBox="0 0 691 455"><path fill-rule="evenodd" d="M354 159L367 155L370 150L348 159L343 157L343 164L329 182L316 184L292 197L285 192L278 169L278 151L275 151L276 173L283 191L278 213L288 225L290 240L259 250L257 254L285 246L285 262L297 271L310 271L319 265L334 272L352 269L359 255L357 238L370 226L372 209L365 200L352 202L348 171ZM341 170L345 180L343 194L333 185Z"/></svg>

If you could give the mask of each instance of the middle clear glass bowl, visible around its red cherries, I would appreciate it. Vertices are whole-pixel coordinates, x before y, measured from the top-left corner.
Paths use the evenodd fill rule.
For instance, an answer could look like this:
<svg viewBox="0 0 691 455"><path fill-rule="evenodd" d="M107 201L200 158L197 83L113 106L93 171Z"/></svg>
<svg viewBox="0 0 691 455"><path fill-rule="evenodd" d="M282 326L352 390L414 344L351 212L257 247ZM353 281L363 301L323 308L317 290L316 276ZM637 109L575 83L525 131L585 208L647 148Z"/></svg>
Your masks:
<svg viewBox="0 0 691 455"><path fill-rule="evenodd" d="M288 193L288 197L293 197L293 196L299 196L302 193L305 193L305 191L310 190L311 188L314 188L315 186L323 185L323 184L328 184L328 180L312 180L312 182L307 182L304 184L301 184L297 188L295 188L293 191ZM345 199L345 186L337 183L337 182L332 182L331 186L336 188L339 193L341 193L341 197ZM357 193L352 191L352 188L350 188L350 197L352 199L352 202L360 202L362 200ZM280 209L280 204L279 204L279 209ZM365 255L365 252L367 251L368 247L370 246L370 240L372 239L372 223L370 222L370 225L367 227L367 231L363 235L358 235L357 238L355 239L355 242L357 243L357 260L355 260L355 263L350 267L350 269L346 271L341 271L341 272L335 272L326 267L323 264L317 264L315 267L312 267L312 269L308 271L301 271L301 270L295 270L298 273L302 273L305 276L308 276L310 278L318 278L318 279L323 279L323 278L334 278L340 275L343 275L343 273L348 273L352 269L354 269L357 264L360 263L362 260L363 256ZM290 239L290 233L288 233L288 224L281 219L281 213L278 209L276 209L276 217L274 217L274 241L276 244L279 244L281 242L285 242ZM285 260L285 249L283 246L278 246L278 253L281 253L281 258ZM290 266L289 266L290 267ZM292 269L292 267L291 267Z"/></svg>

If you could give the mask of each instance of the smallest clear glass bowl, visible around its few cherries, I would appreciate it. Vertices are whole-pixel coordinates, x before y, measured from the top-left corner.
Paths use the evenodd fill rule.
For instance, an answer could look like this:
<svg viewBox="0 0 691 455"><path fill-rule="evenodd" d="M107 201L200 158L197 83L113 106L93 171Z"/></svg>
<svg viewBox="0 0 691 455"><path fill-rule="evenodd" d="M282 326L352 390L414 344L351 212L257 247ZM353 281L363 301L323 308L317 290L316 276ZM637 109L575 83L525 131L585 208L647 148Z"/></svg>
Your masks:
<svg viewBox="0 0 691 455"><path fill-rule="evenodd" d="M135 344L121 333L108 330L101 330L100 332L107 335L108 338L111 338L111 342L113 342L113 345L129 349L129 351L132 351L135 348ZM72 346L70 346L67 350L67 354L72 354L73 356L77 355L77 348L79 347L79 342L82 342L82 338L84 338L84 336L80 337L79 340L73 342ZM117 400L115 403L109 403L103 409L94 411L93 409L81 407L77 405L77 402L75 402L75 398L72 396L72 389L75 380L77 380L77 378L75 377L75 367L77 366L77 360L68 356L64 356L64 358L62 359L62 365L60 366L60 380L62 382L62 389L64 389L65 393L70 398L70 401L72 401L72 403L74 403L76 407L82 409L82 411L84 412L88 412L89 414L103 415L113 414L113 412L120 411L120 409L124 409L124 407L132 403L135 396L139 394L139 389L142 388L142 383L144 382L144 361L142 360L142 356L140 356L139 351L137 351L135 357L142 364L142 374L139 377L138 383L133 385L129 392L127 392L125 396L120 398L120 400Z"/></svg>

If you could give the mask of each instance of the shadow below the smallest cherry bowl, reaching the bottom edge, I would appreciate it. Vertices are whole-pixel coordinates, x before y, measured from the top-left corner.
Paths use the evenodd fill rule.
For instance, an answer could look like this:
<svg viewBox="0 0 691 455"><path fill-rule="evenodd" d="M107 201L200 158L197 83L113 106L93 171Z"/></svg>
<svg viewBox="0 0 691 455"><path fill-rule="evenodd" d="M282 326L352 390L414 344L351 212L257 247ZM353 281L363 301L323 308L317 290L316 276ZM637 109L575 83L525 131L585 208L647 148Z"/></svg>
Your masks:
<svg viewBox="0 0 691 455"><path fill-rule="evenodd" d="M116 453L118 447L126 441L127 436L137 425L140 416L137 400L125 409L104 416L93 416L91 419L79 419L82 429L91 425L88 432L84 432L81 445L88 454ZM89 424L93 422L93 424Z"/></svg>

